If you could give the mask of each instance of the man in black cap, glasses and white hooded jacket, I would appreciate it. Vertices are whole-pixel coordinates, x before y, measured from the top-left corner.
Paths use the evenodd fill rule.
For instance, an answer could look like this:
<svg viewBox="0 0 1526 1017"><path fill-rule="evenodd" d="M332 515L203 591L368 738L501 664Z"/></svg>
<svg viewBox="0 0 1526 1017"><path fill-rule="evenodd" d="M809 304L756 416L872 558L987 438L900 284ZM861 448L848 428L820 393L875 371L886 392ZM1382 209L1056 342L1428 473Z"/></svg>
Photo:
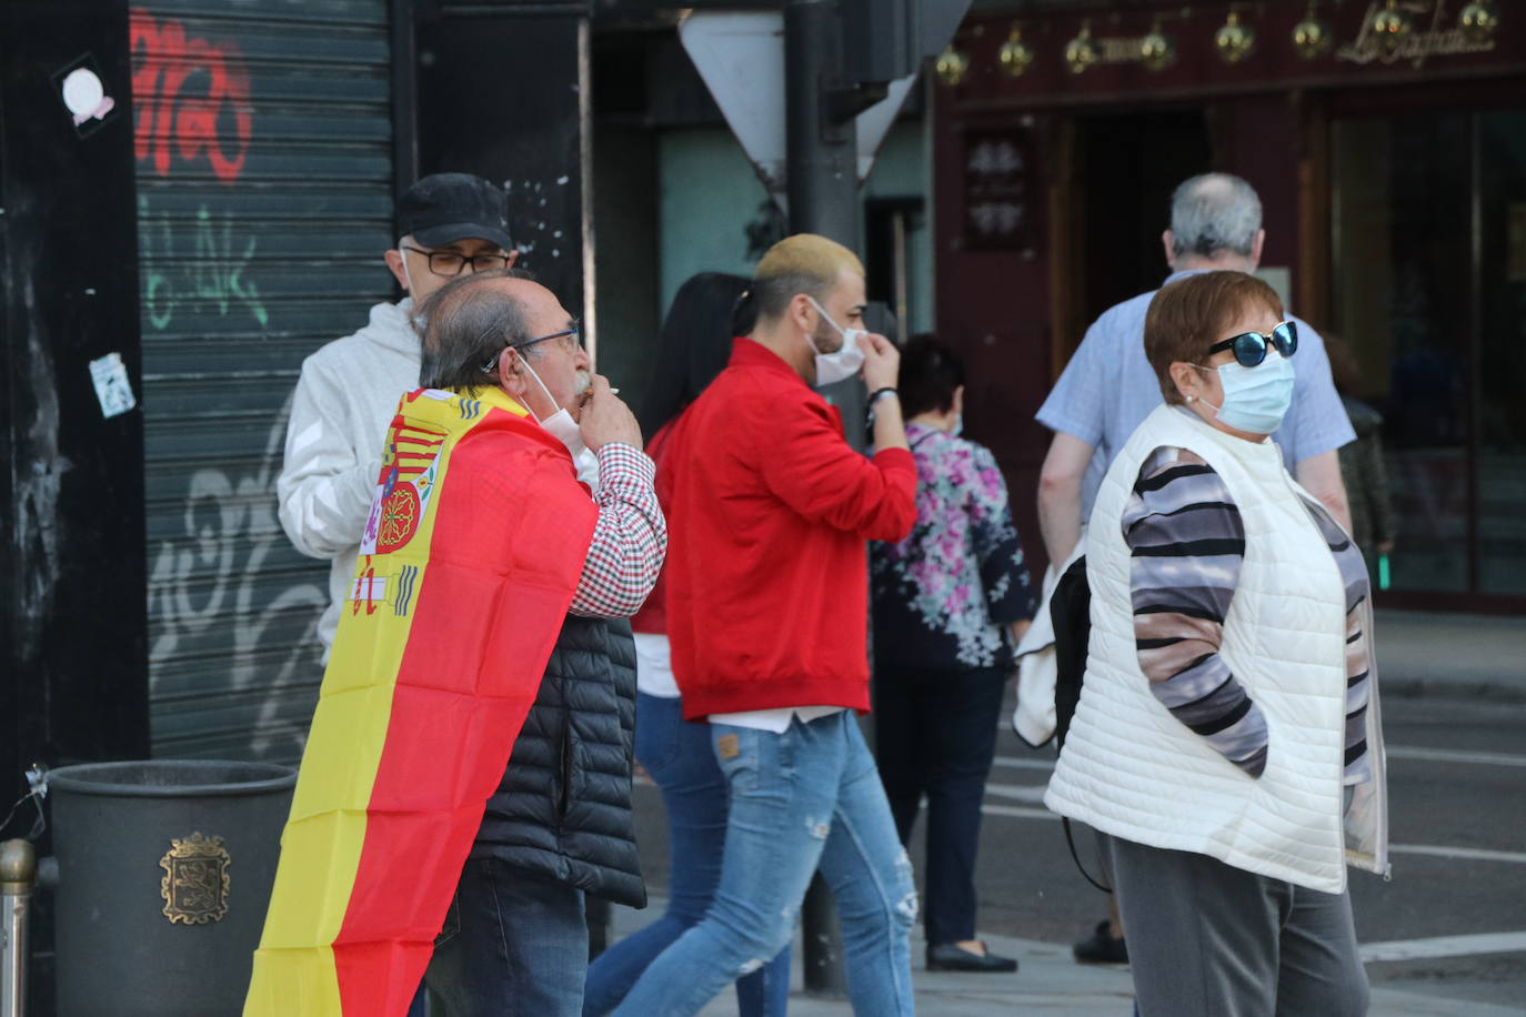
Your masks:
<svg viewBox="0 0 1526 1017"><path fill-rule="evenodd" d="M401 239L386 264L407 296L377 303L365 328L302 361L276 480L287 537L304 555L333 563L317 624L325 657L375 494L382 439L398 398L418 387L414 308L461 273L513 267L519 256L508 198L481 177L424 177L398 198L397 221Z"/></svg>

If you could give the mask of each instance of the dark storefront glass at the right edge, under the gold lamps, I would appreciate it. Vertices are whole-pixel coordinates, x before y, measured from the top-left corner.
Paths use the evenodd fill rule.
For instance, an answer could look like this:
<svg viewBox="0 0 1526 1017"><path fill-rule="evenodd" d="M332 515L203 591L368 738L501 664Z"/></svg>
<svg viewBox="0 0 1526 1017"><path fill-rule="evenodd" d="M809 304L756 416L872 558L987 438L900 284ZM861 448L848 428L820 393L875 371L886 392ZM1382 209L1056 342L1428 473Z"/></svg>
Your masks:
<svg viewBox="0 0 1526 1017"><path fill-rule="evenodd" d="M1526 593L1526 114L1337 120L1332 174L1334 332L1384 418L1380 573Z"/></svg>

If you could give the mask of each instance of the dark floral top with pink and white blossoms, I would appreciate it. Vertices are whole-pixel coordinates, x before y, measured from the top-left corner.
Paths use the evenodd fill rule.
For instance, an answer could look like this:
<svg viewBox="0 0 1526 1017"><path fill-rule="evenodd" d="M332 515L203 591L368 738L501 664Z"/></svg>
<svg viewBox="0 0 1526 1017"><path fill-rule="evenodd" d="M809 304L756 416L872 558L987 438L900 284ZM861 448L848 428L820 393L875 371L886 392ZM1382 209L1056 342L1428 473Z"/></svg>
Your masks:
<svg viewBox="0 0 1526 1017"><path fill-rule="evenodd" d="M1038 605L1007 485L984 445L908 424L917 525L870 546L874 665L963 671L1006 666L1006 627Z"/></svg>

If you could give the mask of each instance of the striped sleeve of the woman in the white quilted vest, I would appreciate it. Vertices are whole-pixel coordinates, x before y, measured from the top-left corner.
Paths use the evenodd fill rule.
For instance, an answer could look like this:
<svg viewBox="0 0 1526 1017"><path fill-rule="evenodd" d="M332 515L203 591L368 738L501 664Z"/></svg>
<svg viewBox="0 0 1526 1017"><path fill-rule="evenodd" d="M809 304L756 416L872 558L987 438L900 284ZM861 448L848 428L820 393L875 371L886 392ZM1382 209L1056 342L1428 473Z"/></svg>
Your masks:
<svg viewBox="0 0 1526 1017"><path fill-rule="evenodd" d="M1245 558L1245 526L1228 489L1190 451L1157 448L1125 508L1123 540L1132 555L1134 640L1151 692L1259 778L1267 718L1219 656Z"/></svg>

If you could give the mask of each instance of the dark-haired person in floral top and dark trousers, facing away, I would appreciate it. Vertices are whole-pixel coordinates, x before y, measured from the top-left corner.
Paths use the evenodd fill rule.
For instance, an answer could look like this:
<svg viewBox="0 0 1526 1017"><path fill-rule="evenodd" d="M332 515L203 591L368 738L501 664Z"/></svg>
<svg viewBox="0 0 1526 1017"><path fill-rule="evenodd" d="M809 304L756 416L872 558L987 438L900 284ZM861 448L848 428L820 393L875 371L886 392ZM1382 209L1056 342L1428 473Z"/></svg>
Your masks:
<svg viewBox="0 0 1526 1017"><path fill-rule="evenodd" d="M1029 569L987 448L960 438L964 364L934 335L900 355L917 523L870 547L874 744L900 842L928 799L929 971L1016 971L975 938L980 804L1012 646L1035 611Z"/></svg>

